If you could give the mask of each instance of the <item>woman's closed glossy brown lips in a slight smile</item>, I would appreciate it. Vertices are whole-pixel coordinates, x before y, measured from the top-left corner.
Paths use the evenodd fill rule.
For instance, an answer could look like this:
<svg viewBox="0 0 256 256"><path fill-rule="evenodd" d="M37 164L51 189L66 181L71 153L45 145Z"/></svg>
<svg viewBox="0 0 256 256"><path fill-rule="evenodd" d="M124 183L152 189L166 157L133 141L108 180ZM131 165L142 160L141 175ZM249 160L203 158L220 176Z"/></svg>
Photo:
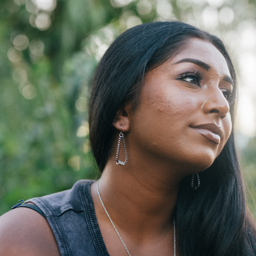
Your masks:
<svg viewBox="0 0 256 256"><path fill-rule="evenodd" d="M190 125L191 128L202 134L206 139L219 144L223 135L222 127L215 123L206 123L201 125Z"/></svg>

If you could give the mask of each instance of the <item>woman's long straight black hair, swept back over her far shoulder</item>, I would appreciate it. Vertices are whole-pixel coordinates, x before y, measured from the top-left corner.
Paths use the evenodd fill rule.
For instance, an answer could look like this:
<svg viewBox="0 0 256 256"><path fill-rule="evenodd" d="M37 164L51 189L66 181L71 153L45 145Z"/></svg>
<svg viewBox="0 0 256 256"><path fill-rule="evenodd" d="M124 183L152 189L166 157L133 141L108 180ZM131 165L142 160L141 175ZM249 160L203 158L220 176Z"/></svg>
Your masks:
<svg viewBox="0 0 256 256"><path fill-rule="evenodd" d="M101 172L116 133L112 121L119 107L132 102L135 111L145 74L178 54L191 38L211 42L222 53L236 94L233 64L216 36L176 21L147 23L125 31L105 52L92 86L90 143ZM235 103L230 112L233 121ZM174 211L180 255L256 255L255 226L246 210L233 130L220 155L200 177L196 192L190 189L191 175L180 183Z"/></svg>

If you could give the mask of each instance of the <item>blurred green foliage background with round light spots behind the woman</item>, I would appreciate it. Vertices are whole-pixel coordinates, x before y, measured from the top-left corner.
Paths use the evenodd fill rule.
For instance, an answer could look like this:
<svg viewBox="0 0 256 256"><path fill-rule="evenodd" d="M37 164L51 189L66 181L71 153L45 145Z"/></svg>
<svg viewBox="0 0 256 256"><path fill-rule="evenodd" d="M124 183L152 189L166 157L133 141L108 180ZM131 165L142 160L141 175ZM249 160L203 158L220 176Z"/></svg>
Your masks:
<svg viewBox="0 0 256 256"><path fill-rule="evenodd" d="M0 215L19 199L69 189L79 179L97 177L86 122L92 74L104 50L122 31L165 19L159 1L143 1L58 0L48 1L53 5L47 10L40 9L36 0L1 0ZM161 3L171 10L167 19L204 29L196 13L210 1ZM229 25L220 23L215 34L235 29L248 17L255 21L256 12L247 12L255 8L255 0L222 1L215 8L225 6L234 10L235 18ZM50 26L36 25L42 13L50 18ZM23 44L16 37L20 34L26 36ZM249 191L256 196L255 138L242 153ZM252 211L253 196L249 197Z"/></svg>

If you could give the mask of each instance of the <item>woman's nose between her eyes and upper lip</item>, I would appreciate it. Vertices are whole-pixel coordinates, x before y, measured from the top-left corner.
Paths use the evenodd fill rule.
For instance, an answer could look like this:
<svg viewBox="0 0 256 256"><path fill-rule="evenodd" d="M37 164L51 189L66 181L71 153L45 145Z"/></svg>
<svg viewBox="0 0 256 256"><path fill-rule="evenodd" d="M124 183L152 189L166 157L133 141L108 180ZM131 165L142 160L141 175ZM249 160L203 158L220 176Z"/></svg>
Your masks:
<svg viewBox="0 0 256 256"><path fill-rule="evenodd" d="M215 114L220 119L225 118L229 111L229 103L219 88L206 92L206 101L202 105L202 111L206 114Z"/></svg>

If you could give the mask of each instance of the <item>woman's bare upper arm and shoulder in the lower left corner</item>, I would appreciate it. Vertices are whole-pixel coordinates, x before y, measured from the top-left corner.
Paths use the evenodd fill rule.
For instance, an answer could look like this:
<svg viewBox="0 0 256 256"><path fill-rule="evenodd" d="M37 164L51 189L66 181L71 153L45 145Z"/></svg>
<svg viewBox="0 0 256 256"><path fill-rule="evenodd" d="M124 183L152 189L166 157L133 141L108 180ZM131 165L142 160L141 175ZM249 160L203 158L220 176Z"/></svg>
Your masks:
<svg viewBox="0 0 256 256"><path fill-rule="evenodd" d="M47 220L29 208L15 208L0 217L0 255L60 256Z"/></svg>

